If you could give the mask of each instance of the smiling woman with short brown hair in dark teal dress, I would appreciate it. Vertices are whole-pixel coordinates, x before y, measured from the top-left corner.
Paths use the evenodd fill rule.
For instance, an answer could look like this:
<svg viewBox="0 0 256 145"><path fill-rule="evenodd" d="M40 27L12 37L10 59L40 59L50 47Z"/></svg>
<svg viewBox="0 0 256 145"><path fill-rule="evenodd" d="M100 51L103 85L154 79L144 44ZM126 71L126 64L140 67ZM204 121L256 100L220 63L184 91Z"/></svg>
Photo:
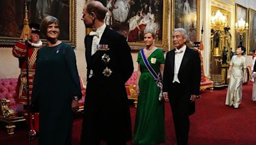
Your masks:
<svg viewBox="0 0 256 145"><path fill-rule="evenodd" d="M32 103L40 113L39 144L71 144L74 112L81 87L72 46L58 40L59 21L52 16L41 22L47 45L38 50Z"/></svg>

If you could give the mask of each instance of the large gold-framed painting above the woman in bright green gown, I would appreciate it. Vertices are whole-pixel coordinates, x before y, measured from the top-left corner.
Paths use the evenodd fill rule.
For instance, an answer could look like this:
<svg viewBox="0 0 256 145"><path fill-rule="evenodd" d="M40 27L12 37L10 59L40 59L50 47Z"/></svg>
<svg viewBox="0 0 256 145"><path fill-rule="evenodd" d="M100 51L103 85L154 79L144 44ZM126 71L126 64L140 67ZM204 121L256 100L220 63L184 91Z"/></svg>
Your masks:
<svg viewBox="0 0 256 145"><path fill-rule="evenodd" d="M156 32L155 46L168 50L168 0L99 0L106 8L108 27L124 35L133 51L145 47L143 31ZM86 29L88 34L90 29Z"/></svg>

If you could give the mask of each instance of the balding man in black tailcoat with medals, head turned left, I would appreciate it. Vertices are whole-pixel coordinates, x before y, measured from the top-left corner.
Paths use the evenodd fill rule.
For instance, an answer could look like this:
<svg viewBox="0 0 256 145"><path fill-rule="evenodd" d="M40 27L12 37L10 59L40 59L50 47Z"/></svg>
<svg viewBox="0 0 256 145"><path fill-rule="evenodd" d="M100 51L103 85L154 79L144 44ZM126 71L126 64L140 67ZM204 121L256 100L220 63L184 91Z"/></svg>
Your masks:
<svg viewBox="0 0 256 145"><path fill-rule="evenodd" d="M107 9L99 1L84 5L83 17L92 32L84 38L87 85L81 144L122 145L131 140L131 116L125 82L134 68L124 36L106 27Z"/></svg>

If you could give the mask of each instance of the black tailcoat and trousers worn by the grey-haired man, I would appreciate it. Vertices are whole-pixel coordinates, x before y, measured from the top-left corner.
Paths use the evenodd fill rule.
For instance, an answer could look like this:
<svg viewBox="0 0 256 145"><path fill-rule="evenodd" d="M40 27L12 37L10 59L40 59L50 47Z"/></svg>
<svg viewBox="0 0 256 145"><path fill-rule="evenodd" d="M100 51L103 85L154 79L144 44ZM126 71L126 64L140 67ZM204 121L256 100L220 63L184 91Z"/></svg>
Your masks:
<svg viewBox="0 0 256 145"><path fill-rule="evenodd" d="M172 83L174 76L175 50L166 53L163 75L163 92L168 92L172 106L173 121L177 144L187 144L189 133L189 115L195 113L195 102L191 95L199 95L200 90L200 57L198 52L186 48L178 78L180 83Z"/></svg>

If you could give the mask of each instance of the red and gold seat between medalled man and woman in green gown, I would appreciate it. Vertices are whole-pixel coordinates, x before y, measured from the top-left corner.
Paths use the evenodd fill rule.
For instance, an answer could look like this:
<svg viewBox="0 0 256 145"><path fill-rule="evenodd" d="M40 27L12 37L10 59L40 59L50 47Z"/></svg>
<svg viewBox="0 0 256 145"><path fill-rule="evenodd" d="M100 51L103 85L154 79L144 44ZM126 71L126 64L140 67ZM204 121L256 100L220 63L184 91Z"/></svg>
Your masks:
<svg viewBox="0 0 256 145"><path fill-rule="evenodd" d="M137 72L134 71L132 73L132 76L125 83L127 97L128 99L134 100L135 107L137 107L137 104L138 104L138 94L136 93L136 79L137 79Z"/></svg>

